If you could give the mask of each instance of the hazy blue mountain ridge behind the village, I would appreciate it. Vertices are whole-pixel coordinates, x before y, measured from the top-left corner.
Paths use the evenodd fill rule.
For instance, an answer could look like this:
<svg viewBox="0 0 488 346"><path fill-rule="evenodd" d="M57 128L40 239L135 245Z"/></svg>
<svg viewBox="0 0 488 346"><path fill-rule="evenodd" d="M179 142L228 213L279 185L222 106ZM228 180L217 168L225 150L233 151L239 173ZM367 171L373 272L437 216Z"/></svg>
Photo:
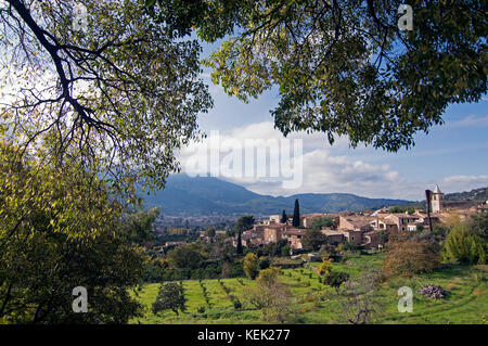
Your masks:
<svg viewBox="0 0 488 346"><path fill-rule="evenodd" d="M145 205L159 206L164 215L270 215L283 209L293 213L295 198L300 213L337 213L408 203L402 200L367 198L349 193L303 193L292 196L270 196L252 192L239 184L214 177L172 175L166 188L156 195L143 196Z"/></svg>

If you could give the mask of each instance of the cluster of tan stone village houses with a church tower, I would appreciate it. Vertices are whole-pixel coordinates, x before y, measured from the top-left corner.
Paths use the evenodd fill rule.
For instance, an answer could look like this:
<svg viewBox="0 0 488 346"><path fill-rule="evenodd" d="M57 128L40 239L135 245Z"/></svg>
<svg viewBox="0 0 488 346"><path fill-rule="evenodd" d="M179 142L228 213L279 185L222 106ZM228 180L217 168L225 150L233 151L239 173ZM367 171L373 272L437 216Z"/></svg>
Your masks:
<svg viewBox="0 0 488 346"><path fill-rule="evenodd" d="M294 227L293 216L270 215L269 219L255 223L252 229L242 233L242 245L259 247L280 240L286 240L291 254L304 251L303 236L312 228L314 220L328 218L333 220L332 227L322 227L321 232L326 236L329 244L349 242L364 249L378 249L383 247L382 232L396 234L398 232L413 232L427 229L431 225L446 222L450 218L459 217L461 220L487 210L488 204L480 201L445 201L445 194L436 185L429 191L429 213L414 209L413 213L391 213L388 207L378 210L364 210L361 213L344 212L338 214L305 214L299 216L299 226ZM284 222L283 222L284 221ZM203 235L204 236L204 235ZM237 238L228 239L237 246Z"/></svg>

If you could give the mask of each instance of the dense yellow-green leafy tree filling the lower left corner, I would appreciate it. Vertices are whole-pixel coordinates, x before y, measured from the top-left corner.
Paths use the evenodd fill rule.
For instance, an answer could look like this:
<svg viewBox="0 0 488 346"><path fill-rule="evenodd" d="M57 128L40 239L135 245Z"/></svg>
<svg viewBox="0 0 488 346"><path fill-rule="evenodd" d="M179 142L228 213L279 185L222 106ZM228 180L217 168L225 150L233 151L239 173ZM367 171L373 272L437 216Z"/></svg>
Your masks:
<svg viewBox="0 0 488 346"><path fill-rule="evenodd" d="M112 189L77 165L18 161L0 142L0 323L127 323L146 257ZM123 215L124 222L123 222ZM74 313L73 289L88 292Z"/></svg>

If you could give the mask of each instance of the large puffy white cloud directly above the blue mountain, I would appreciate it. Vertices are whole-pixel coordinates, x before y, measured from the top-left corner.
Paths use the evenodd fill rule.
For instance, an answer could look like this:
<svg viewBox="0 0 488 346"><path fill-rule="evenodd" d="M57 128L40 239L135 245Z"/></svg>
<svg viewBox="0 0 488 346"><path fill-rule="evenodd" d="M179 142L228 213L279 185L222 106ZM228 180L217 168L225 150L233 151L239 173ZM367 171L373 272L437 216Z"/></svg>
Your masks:
<svg viewBox="0 0 488 346"><path fill-rule="evenodd" d="M282 133L273 128L271 121L252 124L242 128L235 128L232 131L219 132L219 137L220 144L213 141L211 138L215 139L215 137L210 136L204 143L193 143L182 150L180 159L183 170L191 175L196 172L204 175L213 169L220 172L229 172L229 169L226 170L226 167L229 167L228 163L222 157L232 161L232 157L229 157L229 155L232 155L229 154L229 148L226 148L226 143L234 144L234 148L239 146L244 150L248 149L248 142L253 142L249 140L261 140L262 144L268 146L270 146L270 142L282 143L281 141L284 140ZM295 158L299 158L303 162L298 188L284 189L282 181L286 179L282 175L278 177L270 174L266 177L258 177L257 175L242 177L227 174L221 178L243 184L249 190L262 194L291 195L305 192L348 192L377 197L394 195L393 187L395 183L403 180L399 172L393 170L388 165L372 165L363 161L352 161L347 156L332 155L331 146L324 139L323 133L307 134L297 132L291 134L288 139L291 143L295 143L296 140L303 141L303 152L299 153L298 157L295 156ZM214 159L214 164L211 164L213 158L208 157L208 153L213 150L218 150L219 145L223 146L220 161ZM293 144L291 145L293 146ZM346 139L339 139L334 143L334 149L347 146L348 142ZM241 156L237 155L236 159L241 159ZM273 167L283 166L282 157L277 159L268 152L267 171L271 172ZM244 164L248 163L244 162ZM216 165L219 167L216 167ZM294 172L296 171L294 170Z"/></svg>

